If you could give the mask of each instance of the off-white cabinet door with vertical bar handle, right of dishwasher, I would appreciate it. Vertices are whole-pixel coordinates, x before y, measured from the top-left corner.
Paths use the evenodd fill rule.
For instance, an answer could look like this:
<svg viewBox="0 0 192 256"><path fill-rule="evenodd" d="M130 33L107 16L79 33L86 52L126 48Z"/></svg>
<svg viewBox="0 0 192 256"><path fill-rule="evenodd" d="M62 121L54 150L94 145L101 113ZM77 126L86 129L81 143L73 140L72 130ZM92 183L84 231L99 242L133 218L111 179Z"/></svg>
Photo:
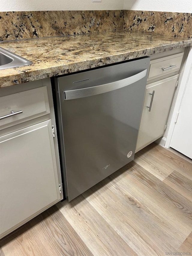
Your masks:
<svg viewBox="0 0 192 256"><path fill-rule="evenodd" d="M136 152L164 134L177 79L178 75L147 85Z"/></svg>

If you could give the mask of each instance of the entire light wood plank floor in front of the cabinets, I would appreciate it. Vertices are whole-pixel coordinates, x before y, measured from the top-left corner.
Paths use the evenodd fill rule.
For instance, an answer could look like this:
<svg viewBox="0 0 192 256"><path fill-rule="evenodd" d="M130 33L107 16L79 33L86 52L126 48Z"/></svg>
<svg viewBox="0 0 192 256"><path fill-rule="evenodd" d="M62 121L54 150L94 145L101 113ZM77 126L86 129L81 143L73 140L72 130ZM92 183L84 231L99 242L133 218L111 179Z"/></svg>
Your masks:
<svg viewBox="0 0 192 256"><path fill-rule="evenodd" d="M192 255L192 163L152 143L76 199L1 239L0 246L2 256Z"/></svg>

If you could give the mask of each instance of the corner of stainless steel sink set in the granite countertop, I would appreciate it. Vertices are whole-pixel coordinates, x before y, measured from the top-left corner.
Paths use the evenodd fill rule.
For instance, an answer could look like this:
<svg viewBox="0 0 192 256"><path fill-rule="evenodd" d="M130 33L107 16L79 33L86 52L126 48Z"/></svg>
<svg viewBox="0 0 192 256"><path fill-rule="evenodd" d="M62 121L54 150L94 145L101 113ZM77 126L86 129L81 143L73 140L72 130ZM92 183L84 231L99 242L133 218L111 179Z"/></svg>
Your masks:
<svg viewBox="0 0 192 256"><path fill-rule="evenodd" d="M0 47L0 70L31 65L33 62Z"/></svg>

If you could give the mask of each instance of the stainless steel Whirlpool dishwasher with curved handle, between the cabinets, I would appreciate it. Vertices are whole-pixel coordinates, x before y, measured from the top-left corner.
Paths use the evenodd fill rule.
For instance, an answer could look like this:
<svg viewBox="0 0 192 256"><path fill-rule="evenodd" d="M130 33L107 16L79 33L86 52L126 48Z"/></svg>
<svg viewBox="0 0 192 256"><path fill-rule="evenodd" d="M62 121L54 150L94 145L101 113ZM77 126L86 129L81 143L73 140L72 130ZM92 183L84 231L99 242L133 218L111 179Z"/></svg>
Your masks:
<svg viewBox="0 0 192 256"><path fill-rule="evenodd" d="M149 57L55 77L64 191L70 201L134 159Z"/></svg>

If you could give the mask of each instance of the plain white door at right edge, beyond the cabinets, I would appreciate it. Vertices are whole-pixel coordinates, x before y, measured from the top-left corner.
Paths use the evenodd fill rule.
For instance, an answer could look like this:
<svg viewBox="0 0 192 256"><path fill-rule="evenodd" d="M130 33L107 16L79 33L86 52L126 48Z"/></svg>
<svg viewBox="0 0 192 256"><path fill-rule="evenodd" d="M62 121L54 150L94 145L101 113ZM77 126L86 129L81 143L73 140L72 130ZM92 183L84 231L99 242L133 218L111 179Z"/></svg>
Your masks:
<svg viewBox="0 0 192 256"><path fill-rule="evenodd" d="M192 158L192 71L184 92L170 147Z"/></svg>

